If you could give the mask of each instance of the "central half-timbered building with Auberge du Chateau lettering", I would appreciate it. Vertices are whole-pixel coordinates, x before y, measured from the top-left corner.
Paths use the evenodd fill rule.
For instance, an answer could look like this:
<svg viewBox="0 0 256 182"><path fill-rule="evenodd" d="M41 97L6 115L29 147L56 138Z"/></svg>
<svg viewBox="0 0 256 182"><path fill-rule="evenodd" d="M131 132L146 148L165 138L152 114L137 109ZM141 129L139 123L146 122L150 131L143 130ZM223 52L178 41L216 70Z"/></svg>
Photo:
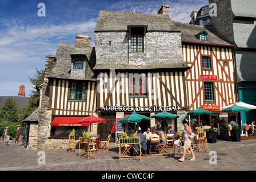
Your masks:
<svg viewBox="0 0 256 182"><path fill-rule="evenodd" d="M109 127L134 110L150 117L164 109L178 115L187 109L189 67L182 59L181 31L169 17L169 6L163 5L158 14L100 11L94 37L97 112L109 118ZM177 119L166 120L166 126L179 127ZM98 133L106 138L110 128L99 125ZM162 119L141 121L137 127L146 131L156 125L163 127ZM123 129L130 133L135 128L126 123Z"/></svg>

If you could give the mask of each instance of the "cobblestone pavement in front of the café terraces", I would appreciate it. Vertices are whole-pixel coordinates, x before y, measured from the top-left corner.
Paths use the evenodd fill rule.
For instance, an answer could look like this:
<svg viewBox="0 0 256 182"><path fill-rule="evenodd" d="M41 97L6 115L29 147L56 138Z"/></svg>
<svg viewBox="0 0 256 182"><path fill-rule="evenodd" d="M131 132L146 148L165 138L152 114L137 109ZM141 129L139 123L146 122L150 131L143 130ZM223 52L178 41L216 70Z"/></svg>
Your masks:
<svg viewBox="0 0 256 182"><path fill-rule="evenodd" d="M45 164L38 164L42 156L39 151L44 151ZM65 148L52 150L27 150L19 144L0 142L0 171L250 171L256 169L256 139L242 140L241 142L227 142L218 140L209 143L209 152L195 152L196 159L190 161L187 155L185 162L179 162L179 155L162 152L161 156L143 157L138 159L123 159L119 162L119 146L111 143L110 150L99 150L96 159L80 156L76 152L67 152ZM177 150L176 150L177 151ZM215 151L217 164L210 164ZM210 160L209 160L210 159ZM41 160L40 160L41 161ZM216 161L216 160L215 160Z"/></svg>

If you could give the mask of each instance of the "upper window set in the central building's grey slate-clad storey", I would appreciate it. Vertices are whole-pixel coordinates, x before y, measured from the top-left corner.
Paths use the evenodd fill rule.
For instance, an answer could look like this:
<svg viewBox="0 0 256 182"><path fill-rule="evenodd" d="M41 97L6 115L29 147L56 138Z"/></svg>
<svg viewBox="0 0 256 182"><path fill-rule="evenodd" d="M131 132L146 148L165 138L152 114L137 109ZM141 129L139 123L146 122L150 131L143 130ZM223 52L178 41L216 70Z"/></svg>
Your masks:
<svg viewBox="0 0 256 182"><path fill-rule="evenodd" d="M143 52L143 27L131 27L131 52Z"/></svg>

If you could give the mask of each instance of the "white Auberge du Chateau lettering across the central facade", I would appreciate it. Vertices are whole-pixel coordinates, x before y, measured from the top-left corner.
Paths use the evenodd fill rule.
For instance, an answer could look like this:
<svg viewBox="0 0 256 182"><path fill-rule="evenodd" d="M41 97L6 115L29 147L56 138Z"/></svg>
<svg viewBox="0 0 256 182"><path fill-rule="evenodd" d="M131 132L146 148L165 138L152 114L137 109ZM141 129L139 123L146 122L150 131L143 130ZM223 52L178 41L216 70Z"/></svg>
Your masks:
<svg viewBox="0 0 256 182"><path fill-rule="evenodd" d="M179 106L103 106L101 111L150 111L150 112L162 112L166 111L178 111Z"/></svg>

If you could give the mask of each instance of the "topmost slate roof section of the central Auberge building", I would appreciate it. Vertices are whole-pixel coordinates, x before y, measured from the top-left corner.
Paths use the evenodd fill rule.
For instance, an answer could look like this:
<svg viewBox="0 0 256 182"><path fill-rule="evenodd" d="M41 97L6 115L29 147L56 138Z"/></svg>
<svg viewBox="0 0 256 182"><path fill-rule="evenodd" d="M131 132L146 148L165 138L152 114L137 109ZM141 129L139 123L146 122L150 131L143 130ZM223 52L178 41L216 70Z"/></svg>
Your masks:
<svg viewBox="0 0 256 182"><path fill-rule="evenodd" d="M103 10L99 11L94 31L127 31L133 25L147 26L147 31L179 31L168 15Z"/></svg>

